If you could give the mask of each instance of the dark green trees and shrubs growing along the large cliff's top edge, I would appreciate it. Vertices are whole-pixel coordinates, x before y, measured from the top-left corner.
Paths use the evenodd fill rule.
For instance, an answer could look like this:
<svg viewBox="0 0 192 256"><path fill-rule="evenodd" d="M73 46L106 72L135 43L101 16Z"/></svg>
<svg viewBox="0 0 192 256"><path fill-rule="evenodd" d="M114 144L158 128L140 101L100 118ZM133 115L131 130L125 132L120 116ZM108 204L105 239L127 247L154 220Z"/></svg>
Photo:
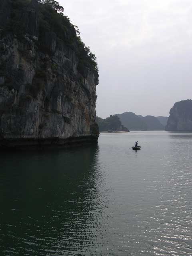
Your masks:
<svg viewBox="0 0 192 256"><path fill-rule="evenodd" d="M70 22L70 18L64 15L64 8L54 0L35 0L39 5L38 24L39 24L39 45L44 51L46 43L42 40L45 34L56 34L57 38L62 40L68 47L74 50L79 58L78 69L82 71L84 66L98 72L96 56L90 51L80 37L77 26ZM22 9L26 8L32 0L10 0L12 4L11 19L8 29L14 34L22 36L26 32L26 24L22 22ZM49 52L51 53L51 52Z"/></svg>

